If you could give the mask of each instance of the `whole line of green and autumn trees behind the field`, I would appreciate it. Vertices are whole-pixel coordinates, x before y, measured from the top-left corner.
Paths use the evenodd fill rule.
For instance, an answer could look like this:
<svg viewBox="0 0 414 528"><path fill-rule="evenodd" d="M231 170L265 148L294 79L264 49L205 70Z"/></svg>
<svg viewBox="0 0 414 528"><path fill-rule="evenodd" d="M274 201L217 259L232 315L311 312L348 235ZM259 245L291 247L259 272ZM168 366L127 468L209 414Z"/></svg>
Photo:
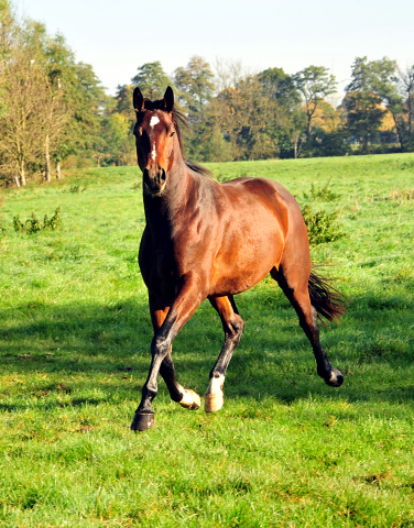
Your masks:
<svg viewBox="0 0 414 528"><path fill-rule="evenodd" d="M61 34L18 21L0 0L0 179L51 180L61 167L135 163L132 91L161 98L172 86L187 117L185 148L199 162L414 151L414 65L356 58L339 106L323 66L215 68L193 56L167 75L160 62L138 67L115 97L90 65L76 62Z"/></svg>

